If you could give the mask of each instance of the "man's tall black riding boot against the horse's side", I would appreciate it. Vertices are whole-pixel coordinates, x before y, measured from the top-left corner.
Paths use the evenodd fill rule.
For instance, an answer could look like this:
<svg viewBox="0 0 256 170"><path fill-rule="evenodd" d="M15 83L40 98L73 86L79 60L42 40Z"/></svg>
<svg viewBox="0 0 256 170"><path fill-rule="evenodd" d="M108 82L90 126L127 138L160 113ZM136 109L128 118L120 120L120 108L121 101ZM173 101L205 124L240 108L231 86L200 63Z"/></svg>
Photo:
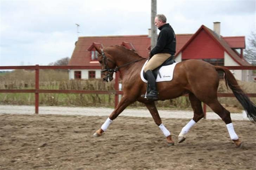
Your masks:
<svg viewBox="0 0 256 170"><path fill-rule="evenodd" d="M149 100L158 100L158 92L156 90L155 77L153 75L152 70L147 70L145 73L148 79L148 87L146 98ZM145 97L145 95L141 95L141 97Z"/></svg>

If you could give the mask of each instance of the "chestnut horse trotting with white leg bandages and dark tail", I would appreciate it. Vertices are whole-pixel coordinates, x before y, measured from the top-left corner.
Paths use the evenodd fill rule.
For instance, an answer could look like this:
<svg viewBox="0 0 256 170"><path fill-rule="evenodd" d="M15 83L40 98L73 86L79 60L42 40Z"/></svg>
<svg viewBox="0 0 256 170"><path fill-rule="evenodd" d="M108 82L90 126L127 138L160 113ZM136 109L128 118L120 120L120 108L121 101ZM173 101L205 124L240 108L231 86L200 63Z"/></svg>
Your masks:
<svg viewBox="0 0 256 170"><path fill-rule="evenodd" d="M161 118L156 109L155 102L142 98L141 95L146 93L146 83L140 78L140 72L145 58L139 56L132 50L121 46L111 46L104 49L96 49L99 53L98 61L101 64L103 80L113 80L113 73L119 71L123 84L123 96L107 118L101 128L98 129L94 136L101 136L107 130L110 123L122 111L135 101L142 102L146 105L151 113L155 123L162 130L167 138L167 144L173 145L171 133L162 124ZM159 100L168 100L188 94L194 116L181 130L178 136L178 142L183 142L188 130L204 117L201 102L206 103L216 114L222 118L228 129L231 140L240 147L242 141L239 140L233 128L230 112L226 110L217 100L217 89L219 85L219 76L217 71L225 73L226 86L231 88L238 101L242 104L252 122L256 122L256 106L250 101L247 95L238 86L232 73L223 67L213 66L210 63L201 60L186 60L176 64L174 68L173 80L158 82L157 89ZM228 88L227 86L227 88Z"/></svg>

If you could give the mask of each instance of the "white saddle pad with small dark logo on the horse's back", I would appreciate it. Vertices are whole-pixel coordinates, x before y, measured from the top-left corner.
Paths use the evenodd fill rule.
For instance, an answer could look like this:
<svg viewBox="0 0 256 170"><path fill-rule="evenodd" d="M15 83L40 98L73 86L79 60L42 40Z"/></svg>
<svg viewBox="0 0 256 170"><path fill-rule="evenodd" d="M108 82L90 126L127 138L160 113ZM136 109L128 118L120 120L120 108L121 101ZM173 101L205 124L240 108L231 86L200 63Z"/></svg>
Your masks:
<svg viewBox="0 0 256 170"><path fill-rule="evenodd" d="M147 83L148 81L146 79L144 79L144 77L143 77L143 69L146 66L147 62L148 62L148 60L143 65L141 72L140 72L140 78L145 83ZM176 66L176 64L177 64L177 62L175 62L171 65L168 65L168 66L162 66L159 70L161 77L158 74L156 77L156 82L171 81L172 77L173 77L173 70L174 70L174 67Z"/></svg>

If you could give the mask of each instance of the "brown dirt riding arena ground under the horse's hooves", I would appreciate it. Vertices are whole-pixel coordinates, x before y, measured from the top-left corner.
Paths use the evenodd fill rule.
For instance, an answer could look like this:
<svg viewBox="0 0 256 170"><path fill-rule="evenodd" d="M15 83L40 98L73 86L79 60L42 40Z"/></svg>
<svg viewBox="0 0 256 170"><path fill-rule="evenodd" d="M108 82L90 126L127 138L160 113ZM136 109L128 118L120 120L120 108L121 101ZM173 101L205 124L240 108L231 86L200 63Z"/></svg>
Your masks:
<svg viewBox="0 0 256 170"><path fill-rule="evenodd" d="M233 121L236 148L221 120L201 120L177 143L189 119L163 118L176 142L167 147L148 117L118 117L99 138L104 116L0 114L0 169L256 169L256 127Z"/></svg>

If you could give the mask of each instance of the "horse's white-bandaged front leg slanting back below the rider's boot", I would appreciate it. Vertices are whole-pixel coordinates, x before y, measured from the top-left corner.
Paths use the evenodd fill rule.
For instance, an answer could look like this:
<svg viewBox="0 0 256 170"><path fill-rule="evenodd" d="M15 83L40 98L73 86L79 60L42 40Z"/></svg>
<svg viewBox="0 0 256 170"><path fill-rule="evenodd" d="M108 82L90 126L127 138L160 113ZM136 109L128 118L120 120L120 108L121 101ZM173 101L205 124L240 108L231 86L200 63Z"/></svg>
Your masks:
<svg viewBox="0 0 256 170"><path fill-rule="evenodd" d="M169 132L169 130L166 129L164 124L162 124L162 120L159 116L158 110L156 109L155 102L145 103L145 105L148 108L150 114L152 115L152 117L155 121L155 124L158 125L158 127L161 129L161 131L165 135L165 137L167 139L167 144L169 146L174 145L171 133Z"/></svg>

